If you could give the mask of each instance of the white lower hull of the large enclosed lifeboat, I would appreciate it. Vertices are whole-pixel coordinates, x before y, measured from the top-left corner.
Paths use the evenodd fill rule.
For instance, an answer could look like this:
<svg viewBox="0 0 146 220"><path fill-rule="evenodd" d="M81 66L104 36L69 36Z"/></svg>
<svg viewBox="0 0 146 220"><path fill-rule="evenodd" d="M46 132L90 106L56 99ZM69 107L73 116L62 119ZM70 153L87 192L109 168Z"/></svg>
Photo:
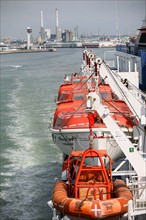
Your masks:
<svg viewBox="0 0 146 220"><path fill-rule="evenodd" d="M89 129L51 129L54 144L66 155L70 155L73 150L86 150L89 147ZM106 150L112 160L118 160L124 156L122 150L111 138L110 132L106 128L93 128L94 147L96 150ZM101 136L101 134L103 136Z"/></svg>

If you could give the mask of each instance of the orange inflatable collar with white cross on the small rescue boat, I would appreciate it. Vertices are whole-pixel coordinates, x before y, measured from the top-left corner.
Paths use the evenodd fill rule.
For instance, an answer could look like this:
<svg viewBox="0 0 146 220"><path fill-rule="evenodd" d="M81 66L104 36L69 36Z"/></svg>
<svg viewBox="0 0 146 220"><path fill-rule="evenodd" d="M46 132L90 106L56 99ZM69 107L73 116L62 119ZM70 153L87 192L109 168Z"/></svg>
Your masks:
<svg viewBox="0 0 146 220"><path fill-rule="evenodd" d="M114 183L116 198L108 200L81 200L69 198L67 185L63 181L56 183L52 201L54 207L70 219L116 219L127 212L128 201L132 194L124 181L116 180Z"/></svg>

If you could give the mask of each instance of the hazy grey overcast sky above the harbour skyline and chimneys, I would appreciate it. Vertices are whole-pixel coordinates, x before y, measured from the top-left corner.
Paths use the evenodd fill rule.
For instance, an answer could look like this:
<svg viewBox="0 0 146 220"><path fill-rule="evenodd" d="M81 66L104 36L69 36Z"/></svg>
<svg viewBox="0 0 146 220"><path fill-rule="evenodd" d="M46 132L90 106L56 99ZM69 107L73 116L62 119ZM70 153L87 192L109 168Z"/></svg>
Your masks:
<svg viewBox="0 0 146 220"><path fill-rule="evenodd" d="M38 37L41 10L44 15L44 27L51 29L51 33L55 33L57 8L59 27L62 31L74 31L78 26L79 34L101 35L116 34L116 21L120 34L136 33L146 14L146 0L0 1L1 38L26 39L28 26L32 28L33 37Z"/></svg>

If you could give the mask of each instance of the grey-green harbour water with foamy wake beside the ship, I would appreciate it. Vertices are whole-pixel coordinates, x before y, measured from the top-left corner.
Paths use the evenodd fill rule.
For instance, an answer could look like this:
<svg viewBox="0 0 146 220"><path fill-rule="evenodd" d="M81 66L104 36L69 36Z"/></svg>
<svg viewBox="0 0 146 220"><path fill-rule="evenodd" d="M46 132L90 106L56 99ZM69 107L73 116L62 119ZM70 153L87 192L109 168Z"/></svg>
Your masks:
<svg viewBox="0 0 146 220"><path fill-rule="evenodd" d="M80 71L82 50L1 55L1 220L52 218L47 202L62 154L48 127L58 87L65 74ZM105 51L93 49L101 57Z"/></svg>

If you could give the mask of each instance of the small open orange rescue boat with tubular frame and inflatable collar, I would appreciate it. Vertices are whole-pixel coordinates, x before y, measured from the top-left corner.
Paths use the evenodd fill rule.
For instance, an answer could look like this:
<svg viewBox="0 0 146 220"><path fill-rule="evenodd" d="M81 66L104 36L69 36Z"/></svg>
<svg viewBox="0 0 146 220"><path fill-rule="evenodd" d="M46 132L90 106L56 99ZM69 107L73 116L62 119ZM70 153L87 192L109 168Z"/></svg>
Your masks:
<svg viewBox="0 0 146 220"><path fill-rule="evenodd" d="M112 180L111 158L93 148L72 152L52 194L54 208L71 220L115 219L128 211L129 200L132 194L125 182Z"/></svg>

